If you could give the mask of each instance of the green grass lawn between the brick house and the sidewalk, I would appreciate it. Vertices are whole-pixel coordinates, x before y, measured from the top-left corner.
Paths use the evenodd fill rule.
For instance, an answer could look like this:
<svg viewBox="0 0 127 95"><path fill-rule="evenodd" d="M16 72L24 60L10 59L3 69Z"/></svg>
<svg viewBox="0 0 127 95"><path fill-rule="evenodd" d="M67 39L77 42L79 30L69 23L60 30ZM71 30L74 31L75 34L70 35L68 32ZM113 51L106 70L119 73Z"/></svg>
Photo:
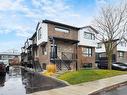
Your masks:
<svg viewBox="0 0 127 95"><path fill-rule="evenodd" d="M70 84L79 84L83 82L94 81L102 78L127 74L127 71L116 70L79 70L63 73L58 76L59 79L65 80Z"/></svg>

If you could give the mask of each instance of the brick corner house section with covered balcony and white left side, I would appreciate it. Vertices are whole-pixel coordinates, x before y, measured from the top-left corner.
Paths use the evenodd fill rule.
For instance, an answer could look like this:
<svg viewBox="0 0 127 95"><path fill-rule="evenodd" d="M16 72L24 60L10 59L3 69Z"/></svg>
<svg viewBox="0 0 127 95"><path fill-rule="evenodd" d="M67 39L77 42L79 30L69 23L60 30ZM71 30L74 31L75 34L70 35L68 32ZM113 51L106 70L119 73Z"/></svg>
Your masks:
<svg viewBox="0 0 127 95"><path fill-rule="evenodd" d="M79 28L54 21L43 20L37 26L38 58L42 66L53 62L52 52L56 48L55 62L63 63L68 69L77 64ZM54 43L53 43L54 42ZM54 63L54 62L53 62ZM63 64L59 64L63 65ZM68 66L72 64L72 67ZM62 66L59 67L62 69Z"/></svg>

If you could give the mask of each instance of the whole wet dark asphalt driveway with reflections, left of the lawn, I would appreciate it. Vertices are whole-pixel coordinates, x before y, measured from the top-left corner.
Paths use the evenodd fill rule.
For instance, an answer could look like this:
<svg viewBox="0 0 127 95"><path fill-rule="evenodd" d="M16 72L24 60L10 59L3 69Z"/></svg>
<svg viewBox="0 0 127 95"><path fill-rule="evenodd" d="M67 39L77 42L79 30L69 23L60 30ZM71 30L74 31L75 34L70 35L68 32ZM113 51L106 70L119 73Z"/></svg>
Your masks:
<svg viewBox="0 0 127 95"><path fill-rule="evenodd" d="M67 85L19 67L11 68L6 76L0 76L0 95L26 95L64 86Z"/></svg>

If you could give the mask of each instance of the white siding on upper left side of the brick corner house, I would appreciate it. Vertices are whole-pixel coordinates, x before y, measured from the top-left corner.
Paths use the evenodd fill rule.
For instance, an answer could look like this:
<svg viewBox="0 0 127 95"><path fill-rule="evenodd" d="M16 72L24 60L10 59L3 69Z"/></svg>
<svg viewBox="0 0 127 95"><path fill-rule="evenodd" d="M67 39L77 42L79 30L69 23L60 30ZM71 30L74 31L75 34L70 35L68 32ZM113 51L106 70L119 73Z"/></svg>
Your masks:
<svg viewBox="0 0 127 95"><path fill-rule="evenodd" d="M38 39L38 30L41 28L41 38ZM42 42L48 41L48 25L46 23L40 23L37 30L37 45L41 44Z"/></svg>

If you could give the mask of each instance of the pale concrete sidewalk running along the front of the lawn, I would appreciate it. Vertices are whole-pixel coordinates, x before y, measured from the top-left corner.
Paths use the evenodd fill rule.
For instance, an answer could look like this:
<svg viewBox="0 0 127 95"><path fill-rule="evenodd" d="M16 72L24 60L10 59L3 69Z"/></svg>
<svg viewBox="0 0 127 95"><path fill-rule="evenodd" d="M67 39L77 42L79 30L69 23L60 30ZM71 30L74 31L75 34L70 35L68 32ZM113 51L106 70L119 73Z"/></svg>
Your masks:
<svg viewBox="0 0 127 95"><path fill-rule="evenodd" d="M35 92L31 95L88 95L106 87L111 87L124 82L127 82L127 74L48 91Z"/></svg>

